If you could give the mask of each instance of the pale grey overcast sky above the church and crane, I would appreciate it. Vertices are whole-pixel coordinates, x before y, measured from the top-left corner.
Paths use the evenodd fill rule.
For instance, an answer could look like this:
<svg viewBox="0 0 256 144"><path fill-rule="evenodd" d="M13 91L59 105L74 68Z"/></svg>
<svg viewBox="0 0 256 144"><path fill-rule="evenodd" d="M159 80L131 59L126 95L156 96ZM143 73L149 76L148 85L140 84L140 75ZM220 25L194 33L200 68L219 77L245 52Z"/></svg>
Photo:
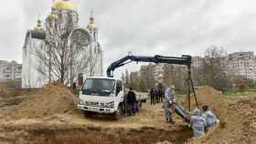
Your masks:
<svg viewBox="0 0 256 144"><path fill-rule="evenodd" d="M134 55L203 56L208 46L229 53L256 51L255 0L70 0L86 26L91 9L104 66ZM6 0L0 5L0 59L22 62L27 29L50 13L52 0ZM131 65L135 67L135 64ZM127 67L124 67L127 68Z"/></svg>

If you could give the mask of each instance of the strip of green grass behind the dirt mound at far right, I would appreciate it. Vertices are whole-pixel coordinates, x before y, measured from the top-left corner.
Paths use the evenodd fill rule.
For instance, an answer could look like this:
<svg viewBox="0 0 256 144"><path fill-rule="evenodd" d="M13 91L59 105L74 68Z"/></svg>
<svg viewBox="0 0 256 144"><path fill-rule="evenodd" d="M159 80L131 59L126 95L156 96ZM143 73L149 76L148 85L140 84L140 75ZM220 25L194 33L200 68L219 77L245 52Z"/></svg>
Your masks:
<svg viewBox="0 0 256 144"><path fill-rule="evenodd" d="M243 91L226 91L223 92L225 96L234 98L250 98L256 97L256 89L248 89Z"/></svg>

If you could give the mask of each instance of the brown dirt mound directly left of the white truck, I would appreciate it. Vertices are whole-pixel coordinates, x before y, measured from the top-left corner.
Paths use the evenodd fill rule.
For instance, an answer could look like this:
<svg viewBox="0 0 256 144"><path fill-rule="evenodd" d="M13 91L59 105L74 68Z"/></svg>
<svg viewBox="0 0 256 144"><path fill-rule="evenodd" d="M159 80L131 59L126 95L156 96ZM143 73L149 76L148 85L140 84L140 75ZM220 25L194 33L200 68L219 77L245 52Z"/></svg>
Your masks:
<svg viewBox="0 0 256 144"><path fill-rule="evenodd" d="M50 84L40 89L34 96L9 109L11 118L40 118L54 114L72 113L76 109L76 98L67 87Z"/></svg>

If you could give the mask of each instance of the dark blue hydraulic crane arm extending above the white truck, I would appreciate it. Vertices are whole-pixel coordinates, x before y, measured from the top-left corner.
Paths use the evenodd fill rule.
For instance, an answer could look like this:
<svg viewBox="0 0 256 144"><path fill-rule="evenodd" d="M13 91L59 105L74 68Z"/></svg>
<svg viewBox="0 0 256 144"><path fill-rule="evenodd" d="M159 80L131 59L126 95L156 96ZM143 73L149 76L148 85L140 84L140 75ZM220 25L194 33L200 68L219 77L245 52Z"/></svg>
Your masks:
<svg viewBox="0 0 256 144"><path fill-rule="evenodd" d="M113 62L107 69L107 76L113 77L112 72L117 67L123 67L124 65L131 62L153 62L155 64L158 63L166 63L166 64L176 64L176 65L186 65L190 69L191 65L191 56L182 56L182 57L163 57L159 55L155 55L155 57L141 57L141 56L132 56L128 55L123 57L115 62Z"/></svg>

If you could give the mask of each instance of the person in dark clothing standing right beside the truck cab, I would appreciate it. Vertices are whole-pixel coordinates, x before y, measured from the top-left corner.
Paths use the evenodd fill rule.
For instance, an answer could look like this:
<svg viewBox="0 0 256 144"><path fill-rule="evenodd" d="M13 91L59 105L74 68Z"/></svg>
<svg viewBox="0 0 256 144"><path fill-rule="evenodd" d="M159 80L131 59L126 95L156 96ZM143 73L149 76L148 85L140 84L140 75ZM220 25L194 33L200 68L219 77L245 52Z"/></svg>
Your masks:
<svg viewBox="0 0 256 144"><path fill-rule="evenodd" d="M128 94L127 94L127 104L129 108L129 115L135 115L136 112L136 95L133 92L133 87L130 87Z"/></svg>

